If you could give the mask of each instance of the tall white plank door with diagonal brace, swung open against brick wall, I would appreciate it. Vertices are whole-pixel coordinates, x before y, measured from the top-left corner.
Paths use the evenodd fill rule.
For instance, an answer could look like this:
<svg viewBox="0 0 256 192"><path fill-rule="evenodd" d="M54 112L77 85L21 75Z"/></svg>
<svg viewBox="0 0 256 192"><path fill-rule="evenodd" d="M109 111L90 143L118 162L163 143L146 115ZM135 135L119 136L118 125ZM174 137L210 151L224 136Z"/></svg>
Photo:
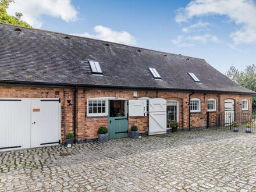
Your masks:
<svg viewBox="0 0 256 192"><path fill-rule="evenodd" d="M149 135L166 133L165 99L154 98L149 100L149 120Z"/></svg>

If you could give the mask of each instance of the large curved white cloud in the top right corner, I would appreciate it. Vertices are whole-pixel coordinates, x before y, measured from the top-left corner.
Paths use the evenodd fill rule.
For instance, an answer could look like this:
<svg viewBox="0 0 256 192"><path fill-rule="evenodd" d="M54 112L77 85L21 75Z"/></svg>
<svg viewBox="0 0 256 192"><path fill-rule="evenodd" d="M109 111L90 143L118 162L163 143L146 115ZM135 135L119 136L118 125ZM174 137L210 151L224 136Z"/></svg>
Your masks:
<svg viewBox="0 0 256 192"><path fill-rule="evenodd" d="M181 23L206 15L227 16L241 26L230 34L234 45L256 43L256 5L253 0L194 0L178 10L175 20Z"/></svg>

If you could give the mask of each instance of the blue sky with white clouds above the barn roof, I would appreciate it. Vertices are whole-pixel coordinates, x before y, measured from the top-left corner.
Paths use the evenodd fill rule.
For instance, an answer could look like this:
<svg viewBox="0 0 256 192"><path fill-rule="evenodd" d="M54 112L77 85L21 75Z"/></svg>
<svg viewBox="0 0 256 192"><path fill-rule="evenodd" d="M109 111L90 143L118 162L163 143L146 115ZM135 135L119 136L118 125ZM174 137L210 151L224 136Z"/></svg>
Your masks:
<svg viewBox="0 0 256 192"><path fill-rule="evenodd" d="M225 73L256 64L256 0L16 0L38 29L204 58Z"/></svg>

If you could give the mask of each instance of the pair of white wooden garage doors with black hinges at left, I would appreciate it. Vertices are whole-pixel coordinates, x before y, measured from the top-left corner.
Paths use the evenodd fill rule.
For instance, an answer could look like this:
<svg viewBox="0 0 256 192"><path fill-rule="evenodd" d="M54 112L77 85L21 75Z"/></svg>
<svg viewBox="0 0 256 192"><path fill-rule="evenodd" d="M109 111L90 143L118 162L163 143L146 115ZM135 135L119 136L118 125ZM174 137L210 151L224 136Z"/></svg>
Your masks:
<svg viewBox="0 0 256 192"><path fill-rule="evenodd" d="M0 151L58 145L60 130L60 99L0 98Z"/></svg>

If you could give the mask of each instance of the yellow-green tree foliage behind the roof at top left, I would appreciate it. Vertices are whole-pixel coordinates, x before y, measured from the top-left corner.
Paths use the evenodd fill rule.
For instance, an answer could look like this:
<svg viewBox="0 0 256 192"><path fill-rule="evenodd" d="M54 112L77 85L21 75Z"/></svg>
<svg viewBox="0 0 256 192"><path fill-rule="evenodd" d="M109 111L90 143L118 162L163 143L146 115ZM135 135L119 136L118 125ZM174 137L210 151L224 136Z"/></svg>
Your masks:
<svg viewBox="0 0 256 192"><path fill-rule="evenodd" d="M15 13L15 16L8 15L6 9L8 9L10 3L15 3L15 0L0 0L0 22L21 27L32 27L30 24L20 20L22 13Z"/></svg>

